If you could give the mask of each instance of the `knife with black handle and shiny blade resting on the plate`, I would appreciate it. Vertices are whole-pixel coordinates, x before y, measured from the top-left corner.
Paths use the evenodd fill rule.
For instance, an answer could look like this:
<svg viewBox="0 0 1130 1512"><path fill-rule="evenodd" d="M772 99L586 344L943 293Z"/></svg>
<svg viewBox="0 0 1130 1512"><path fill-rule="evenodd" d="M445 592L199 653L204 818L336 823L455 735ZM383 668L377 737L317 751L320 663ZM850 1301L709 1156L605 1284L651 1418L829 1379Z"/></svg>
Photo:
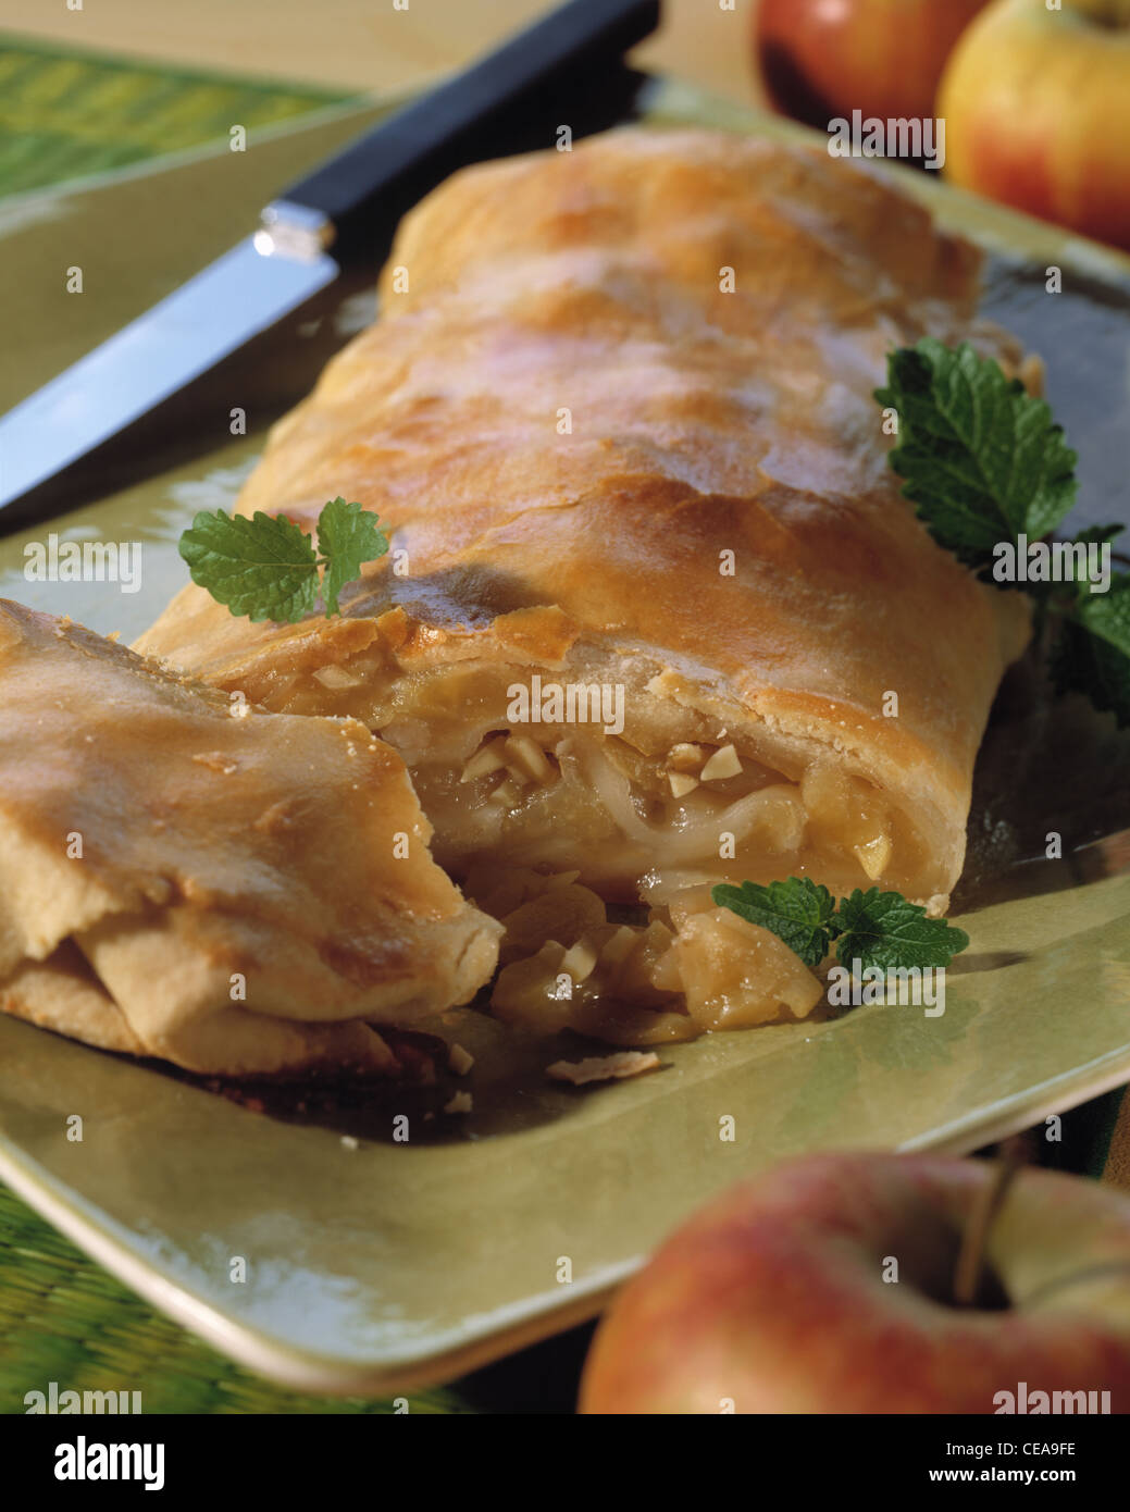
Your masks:
<svg viewBox="0 0 1130 1512"><path fill-rule="evenodd" d="M0 419L0 535L123 487L179 429L183 445L221 373L272 372L271 339L316 327L343 274L371 278L404 212L457 168L622 119L644 80L622 54L658 20L660 0L572 0L292 184L231 251Z"/></svg>

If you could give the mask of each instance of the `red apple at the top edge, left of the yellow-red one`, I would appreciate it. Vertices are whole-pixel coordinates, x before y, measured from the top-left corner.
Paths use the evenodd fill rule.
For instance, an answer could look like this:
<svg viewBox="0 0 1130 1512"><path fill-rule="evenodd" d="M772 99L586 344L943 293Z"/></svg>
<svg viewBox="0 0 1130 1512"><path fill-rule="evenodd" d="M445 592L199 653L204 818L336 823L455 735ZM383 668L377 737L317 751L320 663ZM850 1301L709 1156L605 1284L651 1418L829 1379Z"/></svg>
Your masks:
<svg viewBox="0 0 1130 1512"><path fill-rule="evenodd" d="M986 0L761 0L755 51L778 110L834 116L933 115L945 57Z"/></svg>

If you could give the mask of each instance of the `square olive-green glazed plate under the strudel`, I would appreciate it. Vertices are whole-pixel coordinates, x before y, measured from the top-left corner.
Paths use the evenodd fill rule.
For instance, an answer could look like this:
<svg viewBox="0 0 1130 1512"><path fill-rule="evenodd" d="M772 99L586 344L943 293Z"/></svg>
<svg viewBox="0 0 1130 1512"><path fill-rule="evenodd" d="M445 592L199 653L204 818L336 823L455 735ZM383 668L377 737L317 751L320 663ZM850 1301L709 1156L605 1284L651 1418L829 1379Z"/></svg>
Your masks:
<svg viewBox="0 0 1130 1512"><path fill-rule="evenodd" d="M0 373L0 405L222 251L277 187L377 113L345 110L245 154L0 206L0 280L20 292L6 330L20 360ZM672 85L657 86L650 115L794 135ZM908 183L994 253L986 308L1047 357L1053 404L1083 454L1083 513L1130 519L1116 496L1130 473L1130 263L926 175ZM65 293L76 263L80 296ZM1054 298L1051 263L1063 269ZM354 301L342 318L365 313ZM169 437L142 482L50 526L144 541L139 593L26 582L30 534L0 541L0 593L138 634L185 581L175 541L191 513L230 500L262 448L271 416L256 393L230 402L247 407L253 434L228 435L225 398L215 445L197 437L194 461L174 466ZM387 1393L591 1315L696 1204L784 1155L970 1151L1119 1086L1130 1078L1127 745L1074 703L1033 703L1024 677L1012 676L979 764L961 915L973 945L942 1018L873 1007L720 1034L666 1049L652 1077L576 1090L545 1080L554 1046L514 1043L461 1010L455 1037L478 1057L460 1084L475 1111L461 1119L427 1117L436 1104L422 1093L248 1107L3 1019L0 1176L236 1359L303 1390ZM1014 812L1020 791L1027 818ZM994 881L994 847L1030 853L1026 824L1080 848ZM407 1143L392 1137L398 1113ZM67 1137L73 1114L80 1142ZM720 1137L728 1120L732 1140Z"/></svg>

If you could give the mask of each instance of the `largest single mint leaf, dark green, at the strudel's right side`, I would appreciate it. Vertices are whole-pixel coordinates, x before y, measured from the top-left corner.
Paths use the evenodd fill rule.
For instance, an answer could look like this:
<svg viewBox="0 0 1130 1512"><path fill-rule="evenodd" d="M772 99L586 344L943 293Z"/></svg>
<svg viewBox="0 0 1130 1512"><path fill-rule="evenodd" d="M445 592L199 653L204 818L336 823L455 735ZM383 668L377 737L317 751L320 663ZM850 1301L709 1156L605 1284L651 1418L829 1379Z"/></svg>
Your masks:
<svg viewBox="0 0 1130 1512"><path fill-rule="evenodd" d="M891 467L939 546L985 567L998 541L1047 535L1076 500L1076 454L1042 399L968 343L930 336L886 361L882 405L899 411Z"/></svg>

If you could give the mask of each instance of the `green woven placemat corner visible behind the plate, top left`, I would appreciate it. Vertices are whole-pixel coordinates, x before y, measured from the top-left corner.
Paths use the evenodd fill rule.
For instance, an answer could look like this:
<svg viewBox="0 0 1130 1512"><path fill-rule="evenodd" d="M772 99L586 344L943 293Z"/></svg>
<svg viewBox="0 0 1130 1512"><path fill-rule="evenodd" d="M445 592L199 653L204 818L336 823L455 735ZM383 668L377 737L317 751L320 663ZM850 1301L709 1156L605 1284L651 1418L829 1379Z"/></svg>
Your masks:
<svg viewBox="0 0 1130 1512"><path fill-rule="evenodd" d="M0 197L231 142L352 91L204 74L0 32Z"/></svg>

